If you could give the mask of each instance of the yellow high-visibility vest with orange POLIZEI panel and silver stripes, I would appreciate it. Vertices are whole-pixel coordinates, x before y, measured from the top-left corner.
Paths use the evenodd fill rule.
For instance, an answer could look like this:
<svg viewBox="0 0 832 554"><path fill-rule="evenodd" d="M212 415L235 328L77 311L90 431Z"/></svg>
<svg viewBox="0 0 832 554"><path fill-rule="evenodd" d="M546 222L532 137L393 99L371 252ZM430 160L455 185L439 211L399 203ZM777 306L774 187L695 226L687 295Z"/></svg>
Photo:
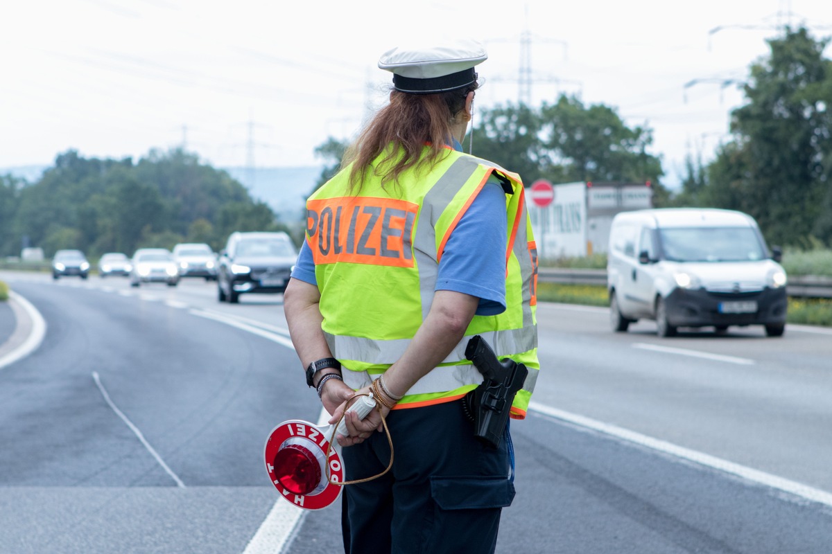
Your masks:
<svg viewBox="0 0 832 554"><path fill-rule="evenodd" d="M378 160L376 160L378 162ZM498 358L522 362L528 376L512 417L525 417L537 361L537 248L522 181L483 159L455 150L430 169L409 169L381 187L375 164L357 194L342 169L307 201L306 241L315 263L322 328L359 390L404 353L433 301L439 260L459 218L489 179L506 192L506 311L474 316L463 341L408 391L396 409L456 400L483 382L465 358L470 336L482 336Z"/></svg>

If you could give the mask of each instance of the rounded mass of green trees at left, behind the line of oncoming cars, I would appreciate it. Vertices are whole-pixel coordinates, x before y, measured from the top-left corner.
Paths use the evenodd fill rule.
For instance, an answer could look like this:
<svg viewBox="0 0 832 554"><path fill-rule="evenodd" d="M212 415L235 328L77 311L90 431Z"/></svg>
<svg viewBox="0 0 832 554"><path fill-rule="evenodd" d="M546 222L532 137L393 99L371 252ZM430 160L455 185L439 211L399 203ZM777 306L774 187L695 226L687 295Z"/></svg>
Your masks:
<svg viewBox="0 0 832 554"><path fill-rule="evenodd" d="M233 231L281 228L242 184L182 150L151 150L137 164L85 159L69 150L37 183L10 183L0 180L0 248L6 253L19 252L23 237L48 255L79 248L94 258L140 246L171 248L186 237L216 248Z"/></svg>

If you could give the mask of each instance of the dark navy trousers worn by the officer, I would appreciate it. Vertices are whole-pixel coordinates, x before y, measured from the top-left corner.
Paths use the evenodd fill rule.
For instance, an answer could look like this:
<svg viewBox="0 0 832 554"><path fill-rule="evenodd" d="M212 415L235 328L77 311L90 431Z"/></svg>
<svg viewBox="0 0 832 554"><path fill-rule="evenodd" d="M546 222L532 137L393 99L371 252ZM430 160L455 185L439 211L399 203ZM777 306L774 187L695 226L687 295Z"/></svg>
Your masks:
<svg viewBox="0 0 832 554"><path fill-rule="evenodd" d="M508 431L498 449L482 444L460 400L397 409L387 424L393 468L344 486L344 552L494 552L501 509L514 498ZM381 473L390 460L387 435L345 448L342 458L349 480Z"/></svg>

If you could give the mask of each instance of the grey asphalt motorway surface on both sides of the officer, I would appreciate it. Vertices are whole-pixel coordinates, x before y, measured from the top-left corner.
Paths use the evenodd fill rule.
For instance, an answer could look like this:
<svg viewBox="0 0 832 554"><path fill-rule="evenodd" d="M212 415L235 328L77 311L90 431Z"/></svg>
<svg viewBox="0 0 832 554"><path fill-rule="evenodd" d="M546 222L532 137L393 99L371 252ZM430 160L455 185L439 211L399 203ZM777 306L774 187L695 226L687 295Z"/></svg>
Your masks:
<svg viewBox="0 0 832 554"><path fill-rule="evenodd" d="M275 424L319 413L279 296L0 278L47 324L0 369L0 552L339 552L339 509L284 507L262 467ZM829 331L538 319L498 552L832 552Z"/></svg>

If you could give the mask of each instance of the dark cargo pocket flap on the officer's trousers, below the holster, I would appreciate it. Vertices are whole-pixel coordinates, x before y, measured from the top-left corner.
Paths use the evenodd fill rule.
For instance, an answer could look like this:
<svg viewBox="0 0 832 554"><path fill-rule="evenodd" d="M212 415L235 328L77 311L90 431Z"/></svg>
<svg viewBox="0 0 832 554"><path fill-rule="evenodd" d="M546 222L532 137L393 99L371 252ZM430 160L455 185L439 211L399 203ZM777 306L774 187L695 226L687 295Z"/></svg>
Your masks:
<svg viewBox="0 0 832 554"><path fill-rule="evenodd" d="M430 493L443 510L511 506L514 483L505 477L432 477Z"/></svg>

